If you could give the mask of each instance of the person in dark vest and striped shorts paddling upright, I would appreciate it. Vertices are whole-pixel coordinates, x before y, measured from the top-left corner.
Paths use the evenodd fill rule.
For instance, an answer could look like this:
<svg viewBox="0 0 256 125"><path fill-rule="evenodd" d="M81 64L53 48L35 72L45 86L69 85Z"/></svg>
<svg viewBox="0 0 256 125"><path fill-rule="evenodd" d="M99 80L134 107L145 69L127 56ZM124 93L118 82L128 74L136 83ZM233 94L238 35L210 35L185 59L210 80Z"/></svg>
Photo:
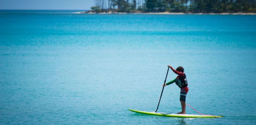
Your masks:
<svg viewBox="0 0 256 125"><path fill-rule="evenodd" d="M169 81L168 83L164 84L163 86L165 87L166 85L176 83L178 87L180 87L180 104L182 111L178 114L186 114L186 94L189 91L188 88L188 82L186 80L186 74L184 73L184 68L183 67L177 67L177 69L173 69L171 65L168 65L172 69L174 73L176 73L178 76L173 79L172 81Z"/></svg>

